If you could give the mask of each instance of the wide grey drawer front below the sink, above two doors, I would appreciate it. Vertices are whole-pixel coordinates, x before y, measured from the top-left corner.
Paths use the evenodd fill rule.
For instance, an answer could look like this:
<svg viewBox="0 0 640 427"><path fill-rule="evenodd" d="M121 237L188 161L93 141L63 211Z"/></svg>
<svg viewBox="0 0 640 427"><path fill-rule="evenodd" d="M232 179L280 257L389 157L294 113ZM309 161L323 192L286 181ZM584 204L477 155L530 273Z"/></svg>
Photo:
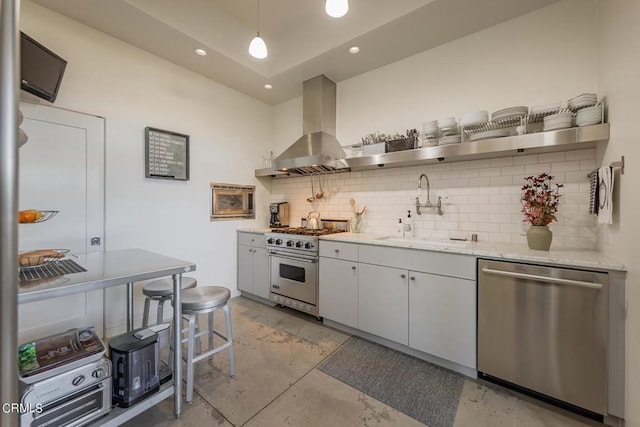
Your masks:
<svg viewBox="0 0 640 427"><path fill-rule="evenodd" d="M361 245L358 256L367 264L476 280L476 258L471 255Z"/></svg>

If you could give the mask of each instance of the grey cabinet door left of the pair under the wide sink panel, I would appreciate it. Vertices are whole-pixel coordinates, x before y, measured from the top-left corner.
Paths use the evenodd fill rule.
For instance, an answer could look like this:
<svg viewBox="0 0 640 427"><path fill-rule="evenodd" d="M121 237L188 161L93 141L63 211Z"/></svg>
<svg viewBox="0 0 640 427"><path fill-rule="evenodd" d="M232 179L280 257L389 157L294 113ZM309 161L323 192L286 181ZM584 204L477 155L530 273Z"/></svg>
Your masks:
<svg viewBox="0 0 640 427"><path fill-rule="evenodd" d="M359 264L358 325L365 332L407 345L407 270Z"/></svg>

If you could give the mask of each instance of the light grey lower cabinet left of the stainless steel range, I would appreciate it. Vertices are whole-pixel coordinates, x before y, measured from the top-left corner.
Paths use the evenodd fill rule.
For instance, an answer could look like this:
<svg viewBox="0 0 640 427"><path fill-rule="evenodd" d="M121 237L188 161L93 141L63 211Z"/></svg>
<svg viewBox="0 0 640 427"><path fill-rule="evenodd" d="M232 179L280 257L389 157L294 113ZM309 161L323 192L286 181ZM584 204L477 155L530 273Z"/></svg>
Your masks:
<svg viewBox="0 0 640 427"><path fill-rule="evenodd" d="M238 289L269 299L269 255L262 234L238 233Z"/></svg>

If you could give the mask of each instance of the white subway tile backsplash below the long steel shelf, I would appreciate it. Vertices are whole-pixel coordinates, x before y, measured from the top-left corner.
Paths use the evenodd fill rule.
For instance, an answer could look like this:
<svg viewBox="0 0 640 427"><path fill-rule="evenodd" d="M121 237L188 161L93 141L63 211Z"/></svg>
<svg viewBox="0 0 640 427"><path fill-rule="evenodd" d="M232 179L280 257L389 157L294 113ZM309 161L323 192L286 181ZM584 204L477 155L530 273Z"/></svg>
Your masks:
<svg viewBox="0 0 640 427"><path fill-rule="evenodd" d="M348 218L349 199L354 198L359 210L367 206L366 232L394 234L398 218L405 218L407 210L411 210L416 235L421 237L448 238L453 234L469 237L477 233L481 241L526 245L520 212L521 188L526 176L547 172L565 184L561 189L558 221L551 225L553 247L594 249L599 233L595 215L588 214L586 174L595 168L595 149L526 154L316 176L316 187L321 180L325 197L313 204L306 202L311 193L309 177L274 179L271 198L290 203L293 225L299 225L311 210L320 211L325 218ZM422 173L429 176L431 201L435 203L442 196L441 216L435 209L415 214L418 177ZM422 187L420 200L424 202L426 183Z"/></svg>

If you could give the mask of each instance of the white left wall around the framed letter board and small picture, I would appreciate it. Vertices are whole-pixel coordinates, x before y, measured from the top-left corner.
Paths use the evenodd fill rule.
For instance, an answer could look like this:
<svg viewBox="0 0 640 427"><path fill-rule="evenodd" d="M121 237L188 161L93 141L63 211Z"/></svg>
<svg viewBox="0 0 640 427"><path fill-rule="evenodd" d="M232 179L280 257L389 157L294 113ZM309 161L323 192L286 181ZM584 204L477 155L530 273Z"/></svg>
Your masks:
<svg viewBox="0 0 640 427"><path fill-rule="evenodd" d="M68 61L55 106L106 118L106 248L192 261L199 284L237 294L235 230L267 218L254 169L273 108L28 0L21 12L21 30ZM144 178L146 126L190 135L188 182ZM258 220L210 222L210 181L256 185ZM108 295L109 334L126 315L123 290Z"/></svg>

